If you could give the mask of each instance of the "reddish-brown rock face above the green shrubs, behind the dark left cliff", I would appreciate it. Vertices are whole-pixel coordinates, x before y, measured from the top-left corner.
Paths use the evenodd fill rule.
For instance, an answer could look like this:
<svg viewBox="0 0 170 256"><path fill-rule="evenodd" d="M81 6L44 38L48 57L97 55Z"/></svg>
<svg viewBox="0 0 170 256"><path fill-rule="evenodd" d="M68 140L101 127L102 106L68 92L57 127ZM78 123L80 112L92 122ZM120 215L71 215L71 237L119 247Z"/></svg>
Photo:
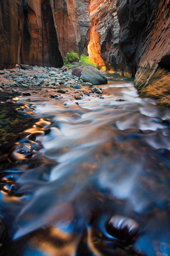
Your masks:
<svg viewBox="0 0 170 256"><path fill-rule="evenodd" d="M51 3L54 6L55 24L63 57L71 50L78 52L80 29L76 0L51 0Z"/></svg>

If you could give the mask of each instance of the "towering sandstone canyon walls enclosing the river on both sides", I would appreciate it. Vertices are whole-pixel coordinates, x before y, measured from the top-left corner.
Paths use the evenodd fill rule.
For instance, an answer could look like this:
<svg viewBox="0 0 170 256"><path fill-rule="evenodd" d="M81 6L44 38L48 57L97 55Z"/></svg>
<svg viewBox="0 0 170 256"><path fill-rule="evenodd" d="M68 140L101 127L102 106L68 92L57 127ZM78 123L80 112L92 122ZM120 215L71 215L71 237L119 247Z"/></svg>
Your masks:
<svg viewBox="0 0 170 256"><path fill-rule="evenodd" d="M63 66L67 52L103 71L135 77L142 97L169 100L168 0L7 0L0 2L0 68Z"/></svg>

